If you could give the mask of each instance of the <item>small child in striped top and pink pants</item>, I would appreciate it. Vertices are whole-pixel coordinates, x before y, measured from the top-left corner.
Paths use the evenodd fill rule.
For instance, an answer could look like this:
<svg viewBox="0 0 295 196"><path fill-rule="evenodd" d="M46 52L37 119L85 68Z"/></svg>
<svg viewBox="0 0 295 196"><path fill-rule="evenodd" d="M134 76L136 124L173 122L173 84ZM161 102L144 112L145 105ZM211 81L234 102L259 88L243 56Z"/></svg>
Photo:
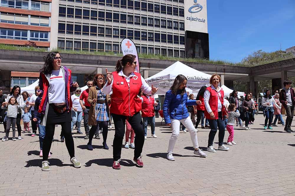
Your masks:
<svg viewBox="0 0 295 196"><path fill-rule="evenodd" d="M227 108L228 110L228 117L227 117L227 125L226 129L230 134L227 139L227 145L236 145L234 140L234 125L235 125L235 118L240 116L240 113L234 112L236 110L236 105L234 103L230 104Z"/></svg>

